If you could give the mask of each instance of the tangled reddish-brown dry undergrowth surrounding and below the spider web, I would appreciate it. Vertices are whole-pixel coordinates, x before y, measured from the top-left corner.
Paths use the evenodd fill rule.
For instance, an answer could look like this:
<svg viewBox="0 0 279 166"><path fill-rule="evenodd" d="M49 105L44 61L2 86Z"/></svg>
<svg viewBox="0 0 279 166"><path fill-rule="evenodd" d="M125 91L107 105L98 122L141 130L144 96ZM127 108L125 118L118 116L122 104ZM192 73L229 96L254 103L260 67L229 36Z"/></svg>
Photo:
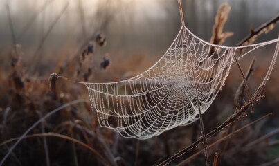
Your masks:
<svg viewBox="0 0 279 166"><path fill-rule="evenodd" d="M222 12L217 14L220 15ZM231 33L229 35L222 33L226 19L219 18L219 24L216 21L219 26L215 26L212 38L212 42L217 42L215 44L224 42L224 39L231 35ZM100 57L96 54L96 49L105 46L104 35L97 34L92 41L80 49L78 54L73 53L73 58L70 60L61 60L56 66L56 71L48 72L59 73L71 80L117 81L136 75L140 71L138 68L147 68L152 61L155 61L142 55L130 59L118 59L117 62L116 59L112 61L109 55ZM149 140L122 138L118 133L98 126L96 113L91 110L87 100L86 88L81 84L61 79L57 75L42 77L42 75L32 74L34 72L28 71L31 64L22 62L23 53L19 45L8 53L1 54L8 55L9 59L8 65L1 65L0 71L0 159L37 120L64 104L83 99L82 102L71 104L42 120L12 150L4 165L153 165L188 147L200 137L199 123L195 122L187 127L166 131L161 136ZM248 68L249 59L245 61L247 65L243 68ZM135 66L135 64L141 65ZM8 67L4 68L4 66ZM265 63L255 61L251 71L253 75L249 76L249 91L257 88L253 85L262 80L263 71L267 71L267 66ZM278 65L274 71L278 71ZM215 129L235 112L237 106L233 98L241 80L237 66L233 66L226 86L204 114L206 133ZM253 112L249 109L239 120L208 138L210 163L213 165L278 164L278 82L278 77L273 75L264 92L266 97L253 106ZM243 97L245 98L245 95ZM240 96L237 95L237 98L239 99ZM267 113L273 115L264 117L264 120L259 122L255 121ZM237 131L242 127L244 127L242 130ZM204 165L202 149L202 145L191 149L171 165L179 163Z"/></svg>

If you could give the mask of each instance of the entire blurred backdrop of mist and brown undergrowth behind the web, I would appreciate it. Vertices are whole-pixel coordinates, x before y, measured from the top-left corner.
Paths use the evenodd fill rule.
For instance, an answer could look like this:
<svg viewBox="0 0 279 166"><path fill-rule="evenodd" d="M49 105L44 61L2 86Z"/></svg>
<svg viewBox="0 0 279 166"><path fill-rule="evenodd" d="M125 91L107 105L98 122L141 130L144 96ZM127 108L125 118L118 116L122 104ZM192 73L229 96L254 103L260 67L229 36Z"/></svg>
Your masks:
<svg viewBox="0 0 279 166"><path fill-rule="evenodd" d="M234 33L226 39L226 46L235 46L251 29L279 14L278 0L182 0L186 26L210 42L215 15L224 2L231 6L224 31ZM276 24L269 33L260 35L255 43L276 39L278 27ZM37 111L44 115L72 100L88 99L87 89L73 82L60 80L53 83L56 86L51 89L51 73L89 82L132 77L152 66L165 53L180 28L175 0L0 0L0 143L21 136L41 118ZM89 49L91 46L93 50ZM249 80L251 93L264 77L273 50L274 45L255 52L257 60ZM89 55L86 58L93 61L82 61L84 55ZM240 62L244 71L251 59L252 55ZM220 143L211 149L211 163L215 152L219 153L220 165L260 165L278 158L278 65L265 89L267 97L258 102L255 113L249 111L230 132L266 113L273 112L273 116L231 138L230 143ZM217 102L204 114L207 132L235 112L233 99L241 80L234 65ZM216 120L212 122L214 118ZM187 147L200 136L197 122L150 140L122 138L114 131L98 126L95 112L88 103L57 113L45 122L44 127L45 132L61 133L86 143L117 165L152 165ZM270 132L273 133L267 136ZM33 133L42 133L41 127ZM210 138L209 142L222 138L224 133L226 131ZM261 140L263 136L267 138ZM32 139L22 140L14 155L8 158L7 165L105 165L87 149L69 141L51 138L46 146L42 136ZM258 146L241 149L259 139ZM64 147L55 149L60 144ZM1 144L0 159L7 153L8 145L12 144ZM202 146L192 149L173 165L199 149ZM48 153L50 155L46 156ZM189 165L204 165L204 155L201 153Z"/></svg>

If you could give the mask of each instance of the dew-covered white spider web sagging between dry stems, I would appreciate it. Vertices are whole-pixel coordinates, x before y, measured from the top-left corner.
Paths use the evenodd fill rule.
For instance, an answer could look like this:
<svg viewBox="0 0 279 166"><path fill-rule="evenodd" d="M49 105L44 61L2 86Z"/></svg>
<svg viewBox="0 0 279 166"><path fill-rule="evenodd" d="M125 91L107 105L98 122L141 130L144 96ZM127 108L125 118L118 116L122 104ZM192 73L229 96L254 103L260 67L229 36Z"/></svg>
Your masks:
<svg viewBox="0 0 279 166"><path fill-rule="evenodd" d="M120 82L81 83L87 86L100 126L126 138L147 139L199 119L198 106L204 113L213 103L234 56L240 59L274 42L278 39L249 46L217 46L182 26L167 52L140 75Z"/></svg>

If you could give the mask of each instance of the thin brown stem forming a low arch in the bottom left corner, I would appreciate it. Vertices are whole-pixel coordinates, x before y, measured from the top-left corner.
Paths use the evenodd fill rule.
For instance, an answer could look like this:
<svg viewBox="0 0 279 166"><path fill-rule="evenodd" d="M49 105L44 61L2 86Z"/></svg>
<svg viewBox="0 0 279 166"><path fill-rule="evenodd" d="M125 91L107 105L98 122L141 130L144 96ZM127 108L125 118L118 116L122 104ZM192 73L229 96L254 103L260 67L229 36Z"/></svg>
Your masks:
<svg viewBox="0 0 279 166"><path fill-rule="evenodd" d="M89 149L89 151L91 151L93 154L95 154L105 165L110 165L109 161L107 161L100 153L98 153L98 151L96 151L96 149L93 149L92 147L90 147L89 145L85 144L84 142L81 142L80 140L77 140L75 138L69 137L69 136L65 136L62 135L60 133L35 133L35 134L30 134L28 136L24 136L24 137L18 137L18 138L12 138L10 140L6 140L5 142L2 142L0 144L0 146L6 145L10 142L14 142L14 141L19 141L22 139L26 139L26 138L39 138L39 137L55 137L55 138L62 138L64 140L70 140L71 142L75 142L78 145L81 145L82 147L85 147L87 149Z"/></svg>

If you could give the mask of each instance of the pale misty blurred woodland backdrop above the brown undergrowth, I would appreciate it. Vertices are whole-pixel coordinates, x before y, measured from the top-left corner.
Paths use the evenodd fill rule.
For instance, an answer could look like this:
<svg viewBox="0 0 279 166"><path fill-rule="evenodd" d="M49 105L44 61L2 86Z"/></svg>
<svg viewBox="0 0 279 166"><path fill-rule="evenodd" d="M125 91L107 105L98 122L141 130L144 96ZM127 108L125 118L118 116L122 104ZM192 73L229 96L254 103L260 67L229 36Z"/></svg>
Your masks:
<svg viewBox="0 0 279 166"><path fill-rule="evenodd" d="M188 28L209 41L215 14L222 2L224 1L183 1ZM226 42L228 46L239 42L251 28L277 15L279 8L276 0L230 0L228 3L231 13L225 29L235 33ZM43 58L62 48L76 49L84 39L98 32L107 36L107 52L125 56L133 53L162 55L181 27L177 1L2 0L1 49L9 48L12 44L7 4L15 41L28 52L32 53L37 48L55 22L42 46L44 51L41 51L40 57ZM270 39L276 33L274 30L265 39Z"/></svg>

